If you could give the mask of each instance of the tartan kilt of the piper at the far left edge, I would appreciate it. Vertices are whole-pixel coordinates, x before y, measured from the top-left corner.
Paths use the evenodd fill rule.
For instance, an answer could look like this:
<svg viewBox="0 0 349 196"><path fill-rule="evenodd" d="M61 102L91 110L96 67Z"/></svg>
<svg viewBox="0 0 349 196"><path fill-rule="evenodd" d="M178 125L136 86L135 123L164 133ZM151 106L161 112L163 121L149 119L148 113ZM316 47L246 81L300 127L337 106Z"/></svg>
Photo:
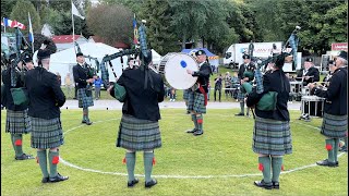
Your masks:
<svg viewBox="0 0 349 196"><path fill-rule="evenodd" d="M13 111L7 110L7 127L5 133L27 134L32 131L28 110Z"/></svg>

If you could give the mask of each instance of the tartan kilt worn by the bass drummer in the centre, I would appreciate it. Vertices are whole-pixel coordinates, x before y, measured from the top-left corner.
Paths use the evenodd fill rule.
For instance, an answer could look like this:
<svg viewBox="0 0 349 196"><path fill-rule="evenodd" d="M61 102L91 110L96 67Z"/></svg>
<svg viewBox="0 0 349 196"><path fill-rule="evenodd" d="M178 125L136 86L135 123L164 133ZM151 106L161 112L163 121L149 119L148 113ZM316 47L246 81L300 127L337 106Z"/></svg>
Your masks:
<svg viewBox="0 0 349 196"><path fill-rule="evenodd" d="M205 96L204 94L197 91L190 91L189 99L188 99L188 107L189 111L194 111L196 113L206 113L206 106L205 106Z"/></svg>

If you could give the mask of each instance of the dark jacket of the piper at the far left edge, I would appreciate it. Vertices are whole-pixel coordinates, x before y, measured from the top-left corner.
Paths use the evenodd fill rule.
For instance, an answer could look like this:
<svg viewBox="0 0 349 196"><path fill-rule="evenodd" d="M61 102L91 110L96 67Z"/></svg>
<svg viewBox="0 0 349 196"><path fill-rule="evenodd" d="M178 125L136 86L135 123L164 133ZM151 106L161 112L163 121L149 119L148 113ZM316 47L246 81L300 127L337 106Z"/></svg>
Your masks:
<svg viewBox="0 0 349 196"><path fill-rule="evenodd" d="M15 69L15 74L16 74L16 85L15 87L11 87L11 69L7 69L4 71L2 71L2 83L4 86L4 95L1 95L1 97L3 96L3 100L1 102L2 106L4 106L7 109L9 110L13 110L13 111L23 111L26 110L28 108L28 106L15 106L13 103L13 98L11 95L11 88L20 88L20 87L24 87L24 76L21 75L21 71L19 71L17 69Z"/></svg>

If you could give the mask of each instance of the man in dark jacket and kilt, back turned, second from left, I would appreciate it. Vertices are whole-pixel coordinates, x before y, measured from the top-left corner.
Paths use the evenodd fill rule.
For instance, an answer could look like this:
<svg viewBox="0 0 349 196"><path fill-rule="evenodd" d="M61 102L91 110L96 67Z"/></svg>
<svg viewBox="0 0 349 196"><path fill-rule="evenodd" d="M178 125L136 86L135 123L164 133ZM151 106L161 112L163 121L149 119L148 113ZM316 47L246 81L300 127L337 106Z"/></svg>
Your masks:
<svg viewBox="0 0 349 196"><path fill-rule="evenodd" d="M57 171L59 147L64 142L60 107L64 105L65 96L57 75L48 71L50 54L48 49L39 49L38 66L29 70L25 77L29 96L28 115L33 127L31 146L37 149L37 162L43 173L41 183L55 183L69 179Z"/></svg>

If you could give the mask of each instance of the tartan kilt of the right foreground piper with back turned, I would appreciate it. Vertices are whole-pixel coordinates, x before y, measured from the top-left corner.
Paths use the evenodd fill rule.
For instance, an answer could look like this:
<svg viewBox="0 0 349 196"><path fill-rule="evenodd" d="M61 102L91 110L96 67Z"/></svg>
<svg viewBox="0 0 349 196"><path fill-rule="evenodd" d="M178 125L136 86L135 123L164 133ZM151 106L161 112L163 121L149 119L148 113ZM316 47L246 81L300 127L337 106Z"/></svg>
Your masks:
<svg viewBox="0 0 349 196"><path fill-rule="evenodd" d="M272 156L292 154L289 121L255 117L252 149L256 154Z"/></svg>

